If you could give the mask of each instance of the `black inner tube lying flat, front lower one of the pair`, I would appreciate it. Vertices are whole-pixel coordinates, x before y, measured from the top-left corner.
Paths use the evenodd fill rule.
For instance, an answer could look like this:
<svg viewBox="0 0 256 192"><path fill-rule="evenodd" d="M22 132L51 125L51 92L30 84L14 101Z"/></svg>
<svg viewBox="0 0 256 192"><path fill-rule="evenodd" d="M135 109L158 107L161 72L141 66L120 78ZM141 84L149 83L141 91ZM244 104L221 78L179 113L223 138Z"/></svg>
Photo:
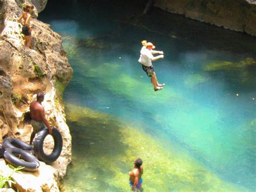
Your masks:
<svg viewBox="0 0 256 192"><path fill-rule="evenodd" d="M15 167L23 166L29 172L34 172L39 167L39 161L34 155L16 147L5 148L4 159Z"/></svg>

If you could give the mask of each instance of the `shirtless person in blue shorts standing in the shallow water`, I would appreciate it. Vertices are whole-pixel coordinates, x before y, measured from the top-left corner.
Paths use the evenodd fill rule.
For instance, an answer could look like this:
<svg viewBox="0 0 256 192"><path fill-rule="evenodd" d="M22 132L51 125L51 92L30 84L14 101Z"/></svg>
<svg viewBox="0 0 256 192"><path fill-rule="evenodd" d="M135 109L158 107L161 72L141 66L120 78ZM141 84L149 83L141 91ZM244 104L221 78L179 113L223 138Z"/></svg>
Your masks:
<svg viewBox="0 0 256 192"><path fill-rule="evenodd" d="M142 159L138 158L134 161L134 167L129 172L130 186L132 190L134 191L142 190L142 181L143 181L142 174L143 174Z"/></svg>

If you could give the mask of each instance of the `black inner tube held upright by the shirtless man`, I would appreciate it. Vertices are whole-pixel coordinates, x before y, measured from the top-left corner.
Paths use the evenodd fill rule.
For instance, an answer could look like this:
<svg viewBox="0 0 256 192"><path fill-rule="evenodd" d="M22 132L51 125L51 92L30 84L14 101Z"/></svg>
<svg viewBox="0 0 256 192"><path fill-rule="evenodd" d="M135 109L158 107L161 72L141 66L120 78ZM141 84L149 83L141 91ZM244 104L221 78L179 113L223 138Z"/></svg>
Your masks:
<svg viewBox="0 0 256 192"><path fill-rule="evenodd" d="M62 140L62 135L60 134L60 132L55 127L52 127L51 136L53 137L53 140L54 140L54 148L50 155L46 155L44 153L43 143L44 143L45 137L48 136L48 134L49 134L49 132L46 127L41 129L37 133L37 137L36 137L35 141L33 141L33 149L35 151L36 157L39 160L42 160L45 163L50 164L50 163L56 161L58 159L60 153L62 152L63 140Z"/></svg>

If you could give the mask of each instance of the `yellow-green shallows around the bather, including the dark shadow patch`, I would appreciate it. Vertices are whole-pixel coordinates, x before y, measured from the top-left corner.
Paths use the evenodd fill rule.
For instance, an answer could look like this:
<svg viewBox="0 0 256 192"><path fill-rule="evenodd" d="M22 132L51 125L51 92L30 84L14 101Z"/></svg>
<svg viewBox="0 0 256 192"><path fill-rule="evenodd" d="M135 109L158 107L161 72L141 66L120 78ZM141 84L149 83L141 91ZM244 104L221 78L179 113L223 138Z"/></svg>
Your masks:
<svg viewBox="0 0 256 192"><path fill-rule="evenodd" d="M185 153L166 151L164 143L122 118L65 106L76 150L63 191L129 191L128 172L138 157L143 159L145 191L247 191L221 180Z"/></svg>

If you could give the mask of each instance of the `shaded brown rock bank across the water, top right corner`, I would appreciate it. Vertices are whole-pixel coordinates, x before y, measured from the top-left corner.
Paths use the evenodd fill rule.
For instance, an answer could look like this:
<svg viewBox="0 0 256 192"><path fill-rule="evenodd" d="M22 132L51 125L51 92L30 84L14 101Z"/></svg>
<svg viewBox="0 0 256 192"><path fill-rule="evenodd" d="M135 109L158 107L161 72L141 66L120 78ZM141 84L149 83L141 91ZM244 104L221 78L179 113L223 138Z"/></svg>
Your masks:
<svg viewBox="0 0 256 192"><path fill-rule="evenodd" d="M225 29L256 35L256 1L156 0L154 6Z"/></svg>

